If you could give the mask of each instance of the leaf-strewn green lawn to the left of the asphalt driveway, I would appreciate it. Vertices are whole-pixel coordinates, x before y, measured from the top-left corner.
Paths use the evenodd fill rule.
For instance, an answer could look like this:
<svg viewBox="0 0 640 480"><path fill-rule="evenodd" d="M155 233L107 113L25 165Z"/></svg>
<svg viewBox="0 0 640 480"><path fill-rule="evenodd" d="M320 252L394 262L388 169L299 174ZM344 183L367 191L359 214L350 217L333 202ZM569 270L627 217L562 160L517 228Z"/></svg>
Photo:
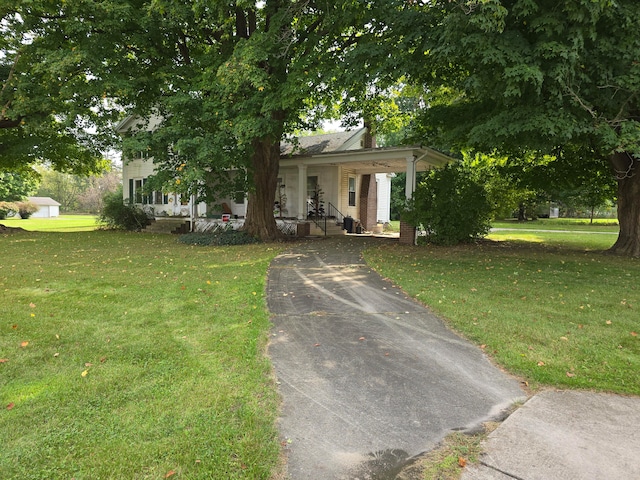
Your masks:
<svg viewBox="0 0 640 480"><path fill-rule="evenodd" d="M264 290L280 247L93 231L0 248L3 479L273 474Z"/></svg>

